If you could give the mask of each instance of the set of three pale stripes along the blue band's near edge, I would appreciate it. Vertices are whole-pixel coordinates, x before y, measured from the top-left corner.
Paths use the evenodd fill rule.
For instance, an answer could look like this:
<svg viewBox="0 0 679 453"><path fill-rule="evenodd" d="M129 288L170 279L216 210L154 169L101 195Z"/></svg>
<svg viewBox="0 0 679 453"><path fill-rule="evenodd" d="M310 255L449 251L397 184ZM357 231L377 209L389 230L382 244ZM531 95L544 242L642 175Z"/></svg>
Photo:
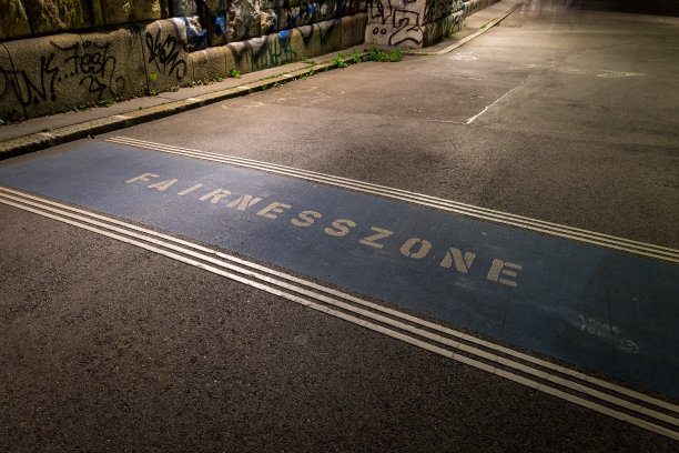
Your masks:
<svg viewBox="0 0 679 453"><path fill-rule="evenodd" d="M18 195L21 195L21 197L26 197L26 198L30 198L32 200L37 200L37 201L40 201L40 202L43 201L40 198L28 195L28 194L23 194L22 192L18 192L18 191L4 189L4 188L0 188L0 189L3 192L14 193L14 194L18 194ZM307 295L307 296L311 296L311 298L315 298L318 301L322 301L322 302L325 302L325 303L328 303L328 304L333 304L333 305L335 305L337 308L341 308L343 310L346 310L346 311L352 311L355 314L358 314L358 315L362 315L362 316L371 318L371 319L373 319L375 321L386 323L386 324L392 325L392 326L394 326L396 329L411 332L411 333L413 333L415 335L418 335L418 336L422 336L422 338L426 338L426 339L432 340L432 341L436 341L436 342L438 342L440 344L445 344L445 345L448 345L450 348L456 348L458 350L465 351L467 353L475 354L477 356L482 356L482 358L484 358L486 360L489 360L489 361L493 361L495 363L499 363L499 364L503 364L503 365L506 365L506 366L515 368L515 369L517 369L517 370L519 370L521 372L534 374L534 375L536 375L539 379L545 379L545 380L551 381L551 382L554 382L556 384L568 386L568 387L570 387L572 390L576 390L578 392L582 392L582 393L589 394L590 396L595 396L595 397L598 397L600 400L608 401L610 403L618 404L620 406L624 406L624 407L637 411L639 413L643 413L647 416L656 417L656 419L661 420L661 421L663 421L666 423L671 423L671 424L675 424L675 425L679 425L679 420L673 419L673 417L671 417L671 416L669 416L667 414L658 413L658 412L649 410L647 407L639 406L639 405L626 402L624 400L619 400L619 399L617 399L615 396L601 393L601 392L592 390L592 389L588 389L588 387L586 387L586 386L584 386L581 384L572 383L572 382L566 381L566 380L564 380L561 378L549 375L548 373L541 372L539 370L529 369L526 365L508 361L508 360L499 358L499 356L497 356L495 354L489 354L489 353L486 353L484 351L476 350L474 348L460 344L458 342L450 341L449 339L439 338L439 336L437 336L435 334L432 334L430 332L422 331L422 330L419 330L417 328L414 328L414 326L401 323L401 322L395 321L395 320L391 320L388 318L375 314L373 312L369 312L369 311L366 311L366 310L363 310L363 309L356 309L356 308L351 306L351 305L348 305L346 303L343 303L341 301L333 300L332 298L322 296L320 294L314 294L313 292L311 292L308 290L305 290L304 288L298 288L298 286L295 286L295 285L290 285L290 284L287 284L285 282L277 281L276 279L272 279L272 278L270 278L267 275L262 275L262 274L259 274L257 272L254 272L254 271L251 271L251 270L246 270L246 269L233 265L233 264L230 265L227 263L220 262L219 260L216 260L216 259L214 259L212 256L205 256L205 255L203 255L201 253L197 253L197 252L194 252L192 250L186 250L186 249L183 249L181 246L178 246L178 245L174 245L174 244L171 244L171 243L166 243L166 242L160 241L158 239L146 238L146 236L144 236L142 234L136 234L134 232L126 231L126 230L124 230L122 228L116 228L116 226L112 226L110 224L105 224L105 223L102 223L102 222L93 221L91 219L87 219L83 215L77 215L77 214L73 214L71 212L68 212L67 210L80 211L81 213L83 213L85 215L99 218L99 219L109 221L111 223L115 223L115 224L120 224L120 225L124 225L124 226L133 226L133 225L129 225L129 224L126 224L124 222L120 222L120 221L116 221L114 219L105 218L103 215L92 214L92 213L89 213L87 211L77 210L77 209L73 209L73 208L61 205L60 203L55 203L55 202L49 202L49 204L52 204L52 205L55 205L55 207L59 207L59 208L63 208L63 209L52 208L52 207L49 207L49 205L41 204L39 202L32 202L32 201L23 200L23 199L21 199L19 197L9 195L7 193L2 193L0 197L1 197L0 201L3 202L4 204L9 204L9 205L12 205L12 207L16 207L16 208L24 209L27 211L34 212L34 213L38 213L38 214L41 214L41 215L44 215L44 217L49 217L51 219L59 220L59 221L62 221L62 222L65 222L65 223L69 223L69 224L73 224L73 225L79 226L79 228L84 228L85 230L93 231L93 232L97 232L97 233L100 233L100 234L104 234L107 236L110 236L110 238L113 238L113 239L116 239L116 240L121 240L123 242L126 242L126 243L130 243L130 244L133 244L133 245L136 245L136 246L142 246L142 248L144 248L146 250L150 250L150 251L153 251L153 252L156 252L156 253L161 253L161 254L163 254L165 256L169 256L169 258L172 258L172 259L185 262L185 263L191 264L191 265L199 266L201 269L209 270L210 272L217 273L220 275L230 278L232 280L235 280L235 281L239 281L239 282L242 282L242 283L245 283L245 284L250 284L250 285L252 285L254 288L267 291L267 292L270 292L272 294L275 294L275 295L283 296L283 298L292 300L294 302L303 303L301 301L301 300L303 300L304 301L303 304L305 304L305 305L307 305L310 308L313 308L315 310L318 310L318 308L316 306L317 304L315 302L305 300L304 298L300 298L298 295L295 295L295 294L290 294L287 291L294 291L294 292L297 292L300 294L304 294L304 295ZM47 200L44 200L44 201L47 201ZM19 203L24 203L24 204L19 204ZM36 208L27 207L26 204L33 205L36 208L40 208L40 209L43 209L43 210L49 210L49 211L52 211L52 212L54 212L57 214L51 214L49 212L40 211L40 210L38 210ZM64 219L63 215L68 215L71 219ZM88 225L85 223L81 223L81 222L88 222L88 223L90 223L90 225ZM95 226L92 226L92 225L95 225ZM115 231L115 233L102 230L101 228L110 229L112 231ZM144 229L139 228L139 226L134 228L134 230L136 230L136 231L144 231L145 232ZM116 234L116 233L122 233L122 234L132 236L134 239L124 238L124 236L121 236L120 234ZM161 233L155 233L153 235L155 235L155 236L163 236L163 234L161 234ZM168 238L171 238L171 236L168 236ZM144 240L144 241L151 242L153 245L142 243L139 240ZM181 240L175 240L173 242L188 243L186 241L181 241ZM188 243L188 244L190 244L190 243ZM189 258L179 255L179 254L176 254L174 252L169 252L169 251L164 251L164 250L158 249L156 245L164 246L164 248L174 250L174 251L180 252L180 253L189 254L189 255L191 255L193 258L200 259L202 261L207 261L211 264L216 264L216 265L220 265L222 268L226 268L229 270L239 272L239 273L247 275L250 278L255 278L255 279L264 281L264 282L266 282L268 284L278 285L281 288L284 288L286 291L281 291L278 289L267 286L266 284L254 282L254 281L252 281L250 279L245 279L245 278L242 278L240 275L235 275L235 274L233 274L231 272L222 271L220 269L214 268L213 265L201 263L201 262L195 261L193 259L189 259ZM203 250L209 250L210 251L210 249L205 249L205 248L202 248L202 246L199 246L199 245L195 245L194 248L195 249L203 249ZM211 251L211 252L212 252L211 255L216 255L217 254L217 252L215 252L215 251ZM241 261L243 261L243 260L241 260ZM354 299L356 299L356 298L354 298ZM321 310L321 311L326 312L326 313L332 314L332 315L337 315L335 310L324 308L323 305L320 305L320 306L323 308L323 310ZM652 423L646 422L646 421L640 420L640 419L636 419L636 417L630 416L630 415L625 414L625 413L618 413L617 411L611 411L610 409L601 406L600 404L592 403L592 402L589 402L587 400L582 400L579 396L575 396L572 394L561 392L561 391L559 391L557 389L551 389L551 387L545 386L544 384L540 384L540 383L537 383L537 382L531 381L529 379L526 379L524 376L516 375L514 373L504 371L501 369L496 369L495 366L490 366L490 365L485 364L483 362L478 362L478 361L476 361L474 359L456 355L454 352L450 352L448 350L444 350L444 349L442 349L439 346L428 344L428 343L423 342L422 340L418 340L418 339L413 339L413 338L407 336L407 335L405 335L405 334L403 334L401 332L391 331L387 328L379 326L379 325L374 324L372 322L368 322L368 321L365 321L365 320L361 320L361 319L355 319L354 316L352 316L349 314L346 314L346 313L340 313L340 314L342 314L342 316L338 316L338 318L345 319L345 320L351 321L351 322L353 322L355 324L363 325L363 326L366 326L366 328L372 329L372 330L376 330L376 331L385 333L385 334L387 334L389 336L397 338L397 339L406 341L406 342L408 342L411 344L415 344L415 345L417 345L419 348L424 348L424 349L427 349L429 351L439 353L442 355L449 356L450 359L460 361L463 363L470 364L470 365L476 366L476 368L482 369L482 370L486 370L486 371L493 372L494 374L500 375L500 376L506 378L506 379L510 379L510 380L513 380L515 382L519 382L519 383L521 383L524 385L531 386L531 387L534 387L536 390L540 390L543 392L546 392L546 393L549 393L549 394L554 394L554 395L559 396L559 397L564 397L564 399L566 399L568 401L575 402L575 403L584 405L586 407L595 409L598 412L606 413L608 415L615 416L616 419L625 420L625 421L627 421L629 423L632 423L632 424L636 424L638 426L641 426L641 427L648 429L650 431L658 432L660 434L668 435L668 436L670 436L672 439L678 439L679 440L679 433L673 432L671 430L667 430L666 427L655 425ZM375 329L375 328L378 328L378 329ZM444 351L445 353L442 353L442 351ZM586 403L586 404L582 404L582 403ZM673 405L671 405L669 403L668 403L668 405L673 406ZM677 412L677 406L673 406L672 410L675 412Z"/></svg>

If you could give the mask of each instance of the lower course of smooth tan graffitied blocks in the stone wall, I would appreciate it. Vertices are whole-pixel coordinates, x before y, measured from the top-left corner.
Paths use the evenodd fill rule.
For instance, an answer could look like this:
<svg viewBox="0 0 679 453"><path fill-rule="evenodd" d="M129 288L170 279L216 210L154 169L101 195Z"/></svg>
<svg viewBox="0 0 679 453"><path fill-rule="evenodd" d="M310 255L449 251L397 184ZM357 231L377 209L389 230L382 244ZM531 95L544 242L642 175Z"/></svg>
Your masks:
<svg viewBox="0 0 679 453"><path fill-rule="evenodd" d="M191 49L191 24L171 18L107 31L0 43L0 119L18 120L105 99L130 99L300 61L361 44L365 13Z"/></svg>

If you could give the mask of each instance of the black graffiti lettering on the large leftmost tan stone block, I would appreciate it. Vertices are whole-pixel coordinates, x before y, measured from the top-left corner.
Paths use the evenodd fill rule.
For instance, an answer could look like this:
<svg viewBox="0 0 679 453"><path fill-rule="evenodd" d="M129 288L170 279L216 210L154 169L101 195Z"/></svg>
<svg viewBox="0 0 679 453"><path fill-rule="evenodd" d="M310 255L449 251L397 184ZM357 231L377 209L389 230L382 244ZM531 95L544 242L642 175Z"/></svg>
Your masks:
<svg viewBox="0 0 679 453"><path fill-rule="evenodd" d="M24 110L58 100L59 87L77 80L77 85L101 100L116 97L125 89L124 76L115 76L116 59L110 54L110 43L75 42L62 47L50 41L52 50L40 57L33 68L8 69L0 66L0 102L10 93Z"/></svg>

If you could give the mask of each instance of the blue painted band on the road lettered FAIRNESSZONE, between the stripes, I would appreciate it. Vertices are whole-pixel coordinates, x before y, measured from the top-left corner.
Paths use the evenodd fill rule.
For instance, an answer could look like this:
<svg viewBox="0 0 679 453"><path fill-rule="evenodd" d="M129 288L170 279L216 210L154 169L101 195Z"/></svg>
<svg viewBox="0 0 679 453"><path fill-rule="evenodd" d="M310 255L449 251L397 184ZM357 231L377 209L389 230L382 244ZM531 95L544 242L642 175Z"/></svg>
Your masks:
<svg viewBox="0 0 679 453"><path fill-rule="evenodd" d="M0 183L267 261L679 397L679 266L110 143Z"/></svg>

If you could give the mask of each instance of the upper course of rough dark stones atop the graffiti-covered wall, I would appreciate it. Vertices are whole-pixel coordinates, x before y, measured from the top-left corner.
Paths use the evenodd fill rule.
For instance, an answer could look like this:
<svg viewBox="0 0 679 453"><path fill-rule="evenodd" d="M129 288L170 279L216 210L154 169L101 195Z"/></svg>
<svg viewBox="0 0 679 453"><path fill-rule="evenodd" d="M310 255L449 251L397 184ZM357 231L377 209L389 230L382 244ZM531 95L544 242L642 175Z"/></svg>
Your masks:
<svg viewBox="0 0 679 453"><path fill-rule="evenodd" d="M365 9L365 0L0 0L0 41L183 18L200 50Z"/></svg>

